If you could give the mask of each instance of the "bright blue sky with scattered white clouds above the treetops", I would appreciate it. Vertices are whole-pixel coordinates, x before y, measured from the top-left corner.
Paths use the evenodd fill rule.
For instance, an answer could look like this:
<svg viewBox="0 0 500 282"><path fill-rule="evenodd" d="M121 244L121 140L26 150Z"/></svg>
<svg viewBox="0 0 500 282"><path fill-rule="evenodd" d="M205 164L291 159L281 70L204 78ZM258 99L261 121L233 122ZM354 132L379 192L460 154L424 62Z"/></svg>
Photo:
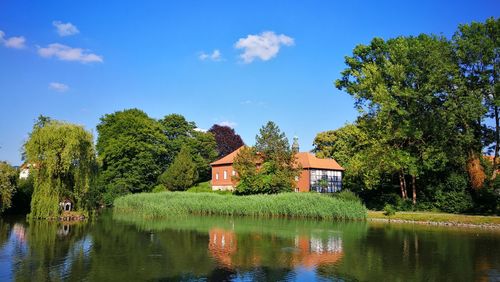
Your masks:
<svg viewBox="0 0 500 282"><path fill-rule="evenodd" d="M139 108L233 127L274 121L301 151L357 117L334 87L374 37L498 17L500 1L0 1L0 160L20 165L40 115L81 124Z"/></svg>

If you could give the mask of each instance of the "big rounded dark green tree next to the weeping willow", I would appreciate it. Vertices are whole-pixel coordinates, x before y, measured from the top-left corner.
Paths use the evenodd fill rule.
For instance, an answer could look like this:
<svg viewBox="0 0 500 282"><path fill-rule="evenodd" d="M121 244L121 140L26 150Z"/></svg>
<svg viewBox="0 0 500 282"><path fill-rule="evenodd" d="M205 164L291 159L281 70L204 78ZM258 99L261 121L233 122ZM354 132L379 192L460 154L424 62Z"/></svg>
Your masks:
<svg viewBox="0 0 500 282"><path fill-rule="evenodd" d="M150 191L168 165L168 139L161 124L141 110L128 109L103 116L97 132L99 183L106 203L127 193Z"/></svg>

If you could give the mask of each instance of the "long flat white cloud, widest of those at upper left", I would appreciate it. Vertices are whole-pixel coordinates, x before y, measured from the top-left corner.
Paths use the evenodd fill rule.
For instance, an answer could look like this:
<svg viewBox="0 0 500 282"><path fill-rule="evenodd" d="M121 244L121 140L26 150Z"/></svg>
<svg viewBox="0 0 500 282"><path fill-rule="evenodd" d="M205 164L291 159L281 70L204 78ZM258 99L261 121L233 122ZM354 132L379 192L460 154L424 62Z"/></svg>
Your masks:
<svg viewBox="0 0 500 282"><path fill-rule="evenodd" d="M80 63L102 63L102 56L89 53L88 50L72 48L63 44L53 43L45 48L38 47L38 54L44 58L56 57L62 61L75 61Z"/></svg>

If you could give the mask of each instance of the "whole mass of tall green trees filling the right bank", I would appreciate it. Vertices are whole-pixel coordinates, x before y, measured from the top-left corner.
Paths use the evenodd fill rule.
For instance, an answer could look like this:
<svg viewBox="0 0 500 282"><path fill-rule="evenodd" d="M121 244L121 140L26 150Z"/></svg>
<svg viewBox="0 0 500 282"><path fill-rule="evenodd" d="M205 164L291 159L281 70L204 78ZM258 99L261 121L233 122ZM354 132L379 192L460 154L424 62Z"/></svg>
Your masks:
<svg viewBox="0 0 500 282"><path fill-rule="evenodd" d="M490 18L461 25L451 40L421 34L354 48L336 87L355 99L360 115L314 141L318 156L346 168L344 187L378 209L390 203L463 212L484 201L480 190L491 187L497 170L486 169L480 155L493 144L496 159L500 144L499 24ZM446 188L448 176L466 173L465 186ZM396 191L401 200L383 199Z"/></svg>

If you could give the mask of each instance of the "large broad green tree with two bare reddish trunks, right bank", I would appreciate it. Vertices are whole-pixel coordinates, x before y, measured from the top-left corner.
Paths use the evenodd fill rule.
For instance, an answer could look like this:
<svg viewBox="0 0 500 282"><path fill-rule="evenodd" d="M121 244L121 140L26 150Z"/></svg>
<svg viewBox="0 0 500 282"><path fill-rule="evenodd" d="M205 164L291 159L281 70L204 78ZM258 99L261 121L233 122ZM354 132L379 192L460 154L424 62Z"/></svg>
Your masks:
<svg viewBox="0 0 500 282"><path fill-rule="evenodd" d="M417 181L426 171L460 167L481 151L475 128L484 108L464 87L445 38L375 38L356 46L346 64L336 86L355 98L369 136L361 159L397 174L403 198L407 176L415 204Z"/></svg>

